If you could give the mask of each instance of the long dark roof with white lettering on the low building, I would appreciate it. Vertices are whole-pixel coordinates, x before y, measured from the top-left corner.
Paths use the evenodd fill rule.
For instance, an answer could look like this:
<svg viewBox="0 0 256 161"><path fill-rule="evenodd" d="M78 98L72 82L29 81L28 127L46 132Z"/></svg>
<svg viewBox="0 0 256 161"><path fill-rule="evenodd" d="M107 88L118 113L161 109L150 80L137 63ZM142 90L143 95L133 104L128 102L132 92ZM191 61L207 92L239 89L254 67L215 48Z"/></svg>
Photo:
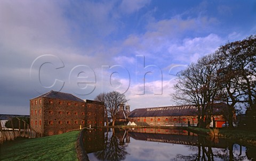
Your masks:
<svg viewBox="0 0 256 161"><path fill-rule="evenodd" d="M213 114L224 114L223 108L226 104L214 104ZM197 107L194 105L167 106L153 108L134 109L128 117L154 117L154 116L195 116Z"/></svg>

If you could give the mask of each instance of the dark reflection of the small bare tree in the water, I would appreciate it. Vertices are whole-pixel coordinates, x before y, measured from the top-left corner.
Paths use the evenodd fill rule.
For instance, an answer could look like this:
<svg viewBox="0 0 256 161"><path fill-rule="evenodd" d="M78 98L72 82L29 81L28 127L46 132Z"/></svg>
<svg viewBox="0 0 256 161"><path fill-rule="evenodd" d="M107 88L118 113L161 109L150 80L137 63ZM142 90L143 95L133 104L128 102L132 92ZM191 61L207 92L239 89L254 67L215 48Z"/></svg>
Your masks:
<svg viewBox="0 0 256 161"><path fill-rule="evenodd" d="M126 152L127 145L121 143L122 140L118 139L119 133L116 134L115 129L112 129L112 131L111 137L109 137L109 132L105 136L104 150L94 153L99 160L124 160L128 154Z"/></svg>

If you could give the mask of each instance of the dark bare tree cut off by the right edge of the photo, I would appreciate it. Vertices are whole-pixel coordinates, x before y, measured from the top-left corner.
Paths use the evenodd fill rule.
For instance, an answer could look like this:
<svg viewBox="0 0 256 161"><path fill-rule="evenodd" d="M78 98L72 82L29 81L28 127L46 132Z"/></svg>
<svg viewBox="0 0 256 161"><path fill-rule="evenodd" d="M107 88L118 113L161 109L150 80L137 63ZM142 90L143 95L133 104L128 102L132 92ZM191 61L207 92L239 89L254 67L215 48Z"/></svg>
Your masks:
<svg viewBox="0 0 256 161"><path fill-rule="evenodd" d="M222 95L222 100L226 100L228 105L229 128L233 128L233 115L237 103L246 103L249 106L249 111L253 111L253 109L255 111L255 53L256 36L227 43L215 52L219 57L219 64L223 66L219 73L221 74L220 81L224 89L223 92L225 92Z"/></svg>

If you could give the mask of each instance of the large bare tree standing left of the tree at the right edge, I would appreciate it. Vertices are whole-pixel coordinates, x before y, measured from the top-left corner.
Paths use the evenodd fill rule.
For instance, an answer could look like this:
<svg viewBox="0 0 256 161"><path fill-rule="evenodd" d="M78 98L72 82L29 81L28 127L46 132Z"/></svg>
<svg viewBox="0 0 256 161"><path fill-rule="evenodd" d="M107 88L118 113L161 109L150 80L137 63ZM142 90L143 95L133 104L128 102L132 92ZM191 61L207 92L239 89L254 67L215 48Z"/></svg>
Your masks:
<svg viewBox="0 0 256 161"><path fill-rule="evenodd" d="M177 74L177 84L172 98L184 104L193 104L198 109L198 123L201 128L210 128L213 103L221 91L217 71L221 66L214 54L191 63Z"/></svg>

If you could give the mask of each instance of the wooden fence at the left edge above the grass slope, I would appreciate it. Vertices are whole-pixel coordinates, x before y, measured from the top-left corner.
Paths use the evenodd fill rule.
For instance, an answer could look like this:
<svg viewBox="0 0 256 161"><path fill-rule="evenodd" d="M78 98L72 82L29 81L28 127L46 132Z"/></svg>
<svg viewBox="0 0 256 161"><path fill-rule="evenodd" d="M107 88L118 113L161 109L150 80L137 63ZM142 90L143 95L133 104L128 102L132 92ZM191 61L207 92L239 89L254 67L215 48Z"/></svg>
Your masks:
<svg viewBox="0 0 256 161"><path fill-rule="evenodd" d="M10 118L12 128L2 127L0 123L0 143L2 144L4 141L14 140L17 137L23 138L39 138L41 134L36 132L34 129L29 127L24 120L20 120L20 118L15 117L19 121L18 129L14 129L13 120ZM21 121L23 123L23 129L21 129Z"/></svg>

